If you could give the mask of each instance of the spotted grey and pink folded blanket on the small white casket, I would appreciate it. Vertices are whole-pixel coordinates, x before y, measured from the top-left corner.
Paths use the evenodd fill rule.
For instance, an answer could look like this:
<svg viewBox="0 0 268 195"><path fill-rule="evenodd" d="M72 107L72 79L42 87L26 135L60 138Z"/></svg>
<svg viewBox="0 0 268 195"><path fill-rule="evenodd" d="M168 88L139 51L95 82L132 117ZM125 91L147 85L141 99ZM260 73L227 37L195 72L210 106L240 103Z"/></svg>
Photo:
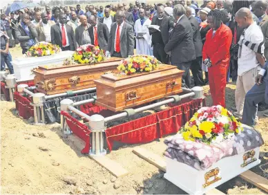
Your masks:
<svg viewBox="0 0 268 195"><path fill-rule="evenodd" d="M263 145L262 136L255 129L243 125L244 131L220 143L207 145L204 142L186 141L182 134L167 138L164 156L185 163L195 169L211 167L218 160L244 153Z"/></svg>

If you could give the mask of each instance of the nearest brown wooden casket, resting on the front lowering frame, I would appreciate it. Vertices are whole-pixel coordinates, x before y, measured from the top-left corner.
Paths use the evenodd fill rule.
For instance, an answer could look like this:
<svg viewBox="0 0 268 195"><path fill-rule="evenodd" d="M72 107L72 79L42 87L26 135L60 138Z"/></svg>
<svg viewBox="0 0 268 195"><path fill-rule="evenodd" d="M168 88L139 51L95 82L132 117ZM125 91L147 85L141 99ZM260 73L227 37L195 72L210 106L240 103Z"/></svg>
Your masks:
<svg viewBox="0 0 268 195"><path fill-rule="evenodd" d="M182 92L182 74L177 66L163 65L150 73L102 75L95 80L96 104L122 111Z"/></svg>

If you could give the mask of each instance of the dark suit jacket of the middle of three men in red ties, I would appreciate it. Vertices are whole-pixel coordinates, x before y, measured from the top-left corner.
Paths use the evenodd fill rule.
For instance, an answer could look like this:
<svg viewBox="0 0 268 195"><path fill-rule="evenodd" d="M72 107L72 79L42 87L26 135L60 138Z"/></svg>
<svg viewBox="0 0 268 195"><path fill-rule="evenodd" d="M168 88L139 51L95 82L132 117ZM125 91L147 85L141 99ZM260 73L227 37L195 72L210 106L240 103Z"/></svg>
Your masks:
<svg viewBox="0 0 268 195"><path fill-rule="evenodd" d="M89 36L91 39L91 44L94 44L94 27L90 26L88 28ZM102 24L100 22L97 23L97 41L99 43L99 48L102 50L107 50L108 48L108 38L109 38L109 30L106 24Z"/></svg>

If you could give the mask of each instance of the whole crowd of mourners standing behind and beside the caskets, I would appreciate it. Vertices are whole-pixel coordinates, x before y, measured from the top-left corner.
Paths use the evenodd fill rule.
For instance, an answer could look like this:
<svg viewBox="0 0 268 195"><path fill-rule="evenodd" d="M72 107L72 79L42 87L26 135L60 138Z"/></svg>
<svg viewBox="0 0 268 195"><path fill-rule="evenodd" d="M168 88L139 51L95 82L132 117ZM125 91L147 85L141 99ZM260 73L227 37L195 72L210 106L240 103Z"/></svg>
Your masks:
<svg viewBox="0 0 268 195"><path fill-rule="evenodd" d="M267 1L230 0L24 8L1 15L1 71L7 65L14 72L9 48L15 44L23 54L40 41L61 50L93 44L107 57L125 58L135 50L178 66L183 87L209 84L215 105L225 106L226 84L236 82L232 109L253 126L257 111L268 107L267 13Z"/></svg>

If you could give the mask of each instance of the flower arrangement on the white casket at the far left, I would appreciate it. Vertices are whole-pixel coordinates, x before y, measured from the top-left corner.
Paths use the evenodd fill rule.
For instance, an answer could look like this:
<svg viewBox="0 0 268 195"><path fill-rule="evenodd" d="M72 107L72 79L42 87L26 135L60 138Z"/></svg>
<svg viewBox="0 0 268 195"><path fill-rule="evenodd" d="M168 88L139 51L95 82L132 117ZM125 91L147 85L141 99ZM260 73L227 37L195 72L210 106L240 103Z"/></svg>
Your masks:
<svg viewBox="0 0 268 195"><path fill-rule="evenodd" d="M57 45L52 45L45 41L41 41L34 46L31 46L26 52L27 57L41 57L46 55L53 55L61 52L61 48Z"/></svg>

